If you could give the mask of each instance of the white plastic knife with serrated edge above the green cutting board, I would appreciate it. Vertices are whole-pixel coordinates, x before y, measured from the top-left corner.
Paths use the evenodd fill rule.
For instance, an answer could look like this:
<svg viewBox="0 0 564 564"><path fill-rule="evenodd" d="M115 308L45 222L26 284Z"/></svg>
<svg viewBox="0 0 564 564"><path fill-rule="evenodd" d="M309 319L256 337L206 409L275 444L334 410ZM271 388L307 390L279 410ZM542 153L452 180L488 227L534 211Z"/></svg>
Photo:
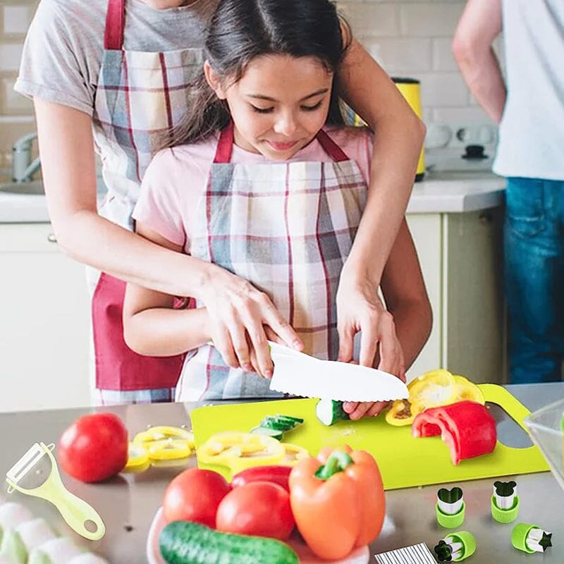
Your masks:
<svg viewBox="0 0 564 564"><path fill-rule="evenodd" d="M390 401L409 397L399 378L375 368L319 360L269 341L274 362L270 389L293 396L341 401Z"/></svg>

